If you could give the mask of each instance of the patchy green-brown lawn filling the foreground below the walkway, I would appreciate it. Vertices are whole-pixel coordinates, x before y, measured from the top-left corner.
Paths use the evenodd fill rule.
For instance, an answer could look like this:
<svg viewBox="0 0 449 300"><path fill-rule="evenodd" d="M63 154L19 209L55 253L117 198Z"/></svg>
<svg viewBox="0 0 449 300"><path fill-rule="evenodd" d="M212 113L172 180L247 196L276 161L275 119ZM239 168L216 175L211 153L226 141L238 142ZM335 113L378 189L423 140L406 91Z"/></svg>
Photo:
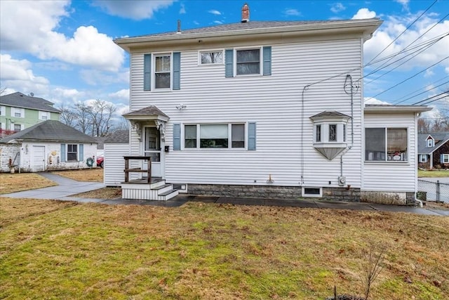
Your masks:
<svg viewBox="0 0 449 300"><path fill-rule="evenodd" d="M0 299L324 299L334 285L362 295L370 244L387 249L371 299L449 294L447 217L199 202L0 204L8 211ZM21 215L10 213L17 207Z"/></svg>

